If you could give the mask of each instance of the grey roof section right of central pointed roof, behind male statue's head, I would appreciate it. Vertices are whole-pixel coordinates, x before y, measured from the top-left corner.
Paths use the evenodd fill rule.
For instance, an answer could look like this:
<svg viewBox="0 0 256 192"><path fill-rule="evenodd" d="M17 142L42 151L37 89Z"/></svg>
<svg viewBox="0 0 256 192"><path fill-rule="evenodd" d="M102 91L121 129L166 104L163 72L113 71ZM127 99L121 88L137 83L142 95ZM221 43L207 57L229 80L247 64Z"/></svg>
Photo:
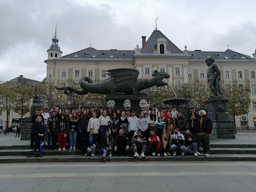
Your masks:
<svg viewBox="0 0 256 192"><path fill-rule="evenodd" d="M188 51L191 55L189 61L204 61L213 57L215 61L256 61L254 58L227 49L226 51Z"/></svg>

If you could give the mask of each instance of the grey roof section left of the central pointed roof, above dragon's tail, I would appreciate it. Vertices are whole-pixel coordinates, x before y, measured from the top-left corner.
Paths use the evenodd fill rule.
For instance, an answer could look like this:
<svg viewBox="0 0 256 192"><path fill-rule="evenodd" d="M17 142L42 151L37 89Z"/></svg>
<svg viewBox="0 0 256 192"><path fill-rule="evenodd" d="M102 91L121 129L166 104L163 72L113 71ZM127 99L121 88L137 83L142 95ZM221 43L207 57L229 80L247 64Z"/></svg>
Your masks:
<svg viewBox="0 0 256 192"><path fill-rule="evenodd" d="M74 60L132 60L134 50L95 50L92 47L88 47L81 51L77 51L68 55L65 55L59 59L74 59Z"/></svg>

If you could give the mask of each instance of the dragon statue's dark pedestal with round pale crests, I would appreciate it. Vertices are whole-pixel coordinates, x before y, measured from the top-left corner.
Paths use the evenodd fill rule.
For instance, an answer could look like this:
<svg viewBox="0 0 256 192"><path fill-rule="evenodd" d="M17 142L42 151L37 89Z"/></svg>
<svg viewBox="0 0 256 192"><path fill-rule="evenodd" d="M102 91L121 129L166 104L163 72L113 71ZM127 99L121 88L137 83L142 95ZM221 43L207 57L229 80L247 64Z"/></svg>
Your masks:
<svg viewBox="0 0 256 192"><path fill-rule="evenodd" d="M105 100L115 101L114 110L117 109L122 111L126 110L135 110L137 114L140 114L140 111L145 110L141 106L149 104L149 97L147 94L138 94L138 95L125 95L125 94L115 94L115 95L107 95ZM126 102L125 102L126 101ZM130 101L130 102L129 102ZM124 103L125 102L125 103ZM125 105L124 105L125 104ZM110 106L108 106L110 107Z"/></svg>

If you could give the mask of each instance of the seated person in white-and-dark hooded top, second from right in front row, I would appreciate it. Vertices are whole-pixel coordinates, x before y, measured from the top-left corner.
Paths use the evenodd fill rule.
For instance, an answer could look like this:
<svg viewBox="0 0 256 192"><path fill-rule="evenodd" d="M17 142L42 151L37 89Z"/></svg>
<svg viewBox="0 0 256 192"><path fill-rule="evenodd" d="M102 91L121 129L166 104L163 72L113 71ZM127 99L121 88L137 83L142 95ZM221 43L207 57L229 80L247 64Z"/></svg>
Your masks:
<svg viewBox="0 0 256 192"><path fill-rule="evenodd" d="M177 149L181 150L181 155L184 155L186 151L186 140L177 127L174 128L174 133L172 134L172 143L171 149L173 155L175 156L177 154Z"/></svg>

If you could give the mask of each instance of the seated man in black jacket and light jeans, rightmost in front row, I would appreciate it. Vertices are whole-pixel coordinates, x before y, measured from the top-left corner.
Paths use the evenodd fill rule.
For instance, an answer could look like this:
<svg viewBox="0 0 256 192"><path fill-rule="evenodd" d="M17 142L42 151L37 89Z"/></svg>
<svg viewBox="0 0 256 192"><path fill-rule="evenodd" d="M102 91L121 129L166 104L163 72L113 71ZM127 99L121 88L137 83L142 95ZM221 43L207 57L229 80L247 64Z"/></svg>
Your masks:
<svg viewBox="0 0 256 192"><path fill-rule="evenodd" d="M196 137L196 135L192 134L190 130L186 130L185 141L186 141L186 153L194 154L195 156L201 155L197 151L197 145L199 139Z"/></svg>

